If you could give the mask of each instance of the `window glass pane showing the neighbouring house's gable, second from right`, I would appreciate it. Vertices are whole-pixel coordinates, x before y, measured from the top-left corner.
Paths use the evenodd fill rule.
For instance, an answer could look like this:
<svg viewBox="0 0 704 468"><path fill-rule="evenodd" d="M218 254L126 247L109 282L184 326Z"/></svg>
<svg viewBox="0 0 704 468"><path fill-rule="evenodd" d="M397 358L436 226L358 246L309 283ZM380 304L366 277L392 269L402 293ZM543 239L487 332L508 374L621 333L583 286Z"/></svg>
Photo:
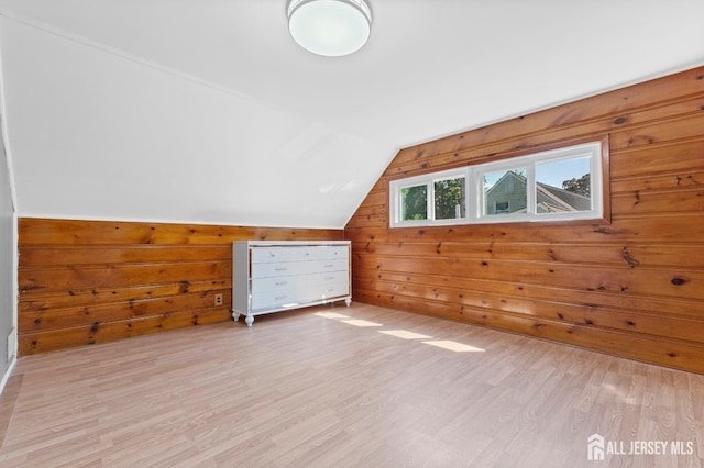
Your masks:
<svg viewBox="0 0 704 468"><path fill-rule="evenodd" d="M525 167L484 174L484 215L525 213L528 205L526 174Z"/></svg>

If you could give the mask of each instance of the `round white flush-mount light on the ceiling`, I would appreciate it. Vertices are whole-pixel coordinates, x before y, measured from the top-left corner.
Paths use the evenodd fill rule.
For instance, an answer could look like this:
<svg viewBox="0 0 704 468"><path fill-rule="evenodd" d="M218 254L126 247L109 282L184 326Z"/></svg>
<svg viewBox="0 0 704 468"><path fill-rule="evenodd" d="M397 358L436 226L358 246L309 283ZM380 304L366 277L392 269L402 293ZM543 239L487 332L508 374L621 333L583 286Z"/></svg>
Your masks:
<svg viewBox="0 0 704 468"><path fill-rule="evenodd" d="M289 0L288 31L302 48L327 57L362 48L372 31L364 0Z"/></svg>

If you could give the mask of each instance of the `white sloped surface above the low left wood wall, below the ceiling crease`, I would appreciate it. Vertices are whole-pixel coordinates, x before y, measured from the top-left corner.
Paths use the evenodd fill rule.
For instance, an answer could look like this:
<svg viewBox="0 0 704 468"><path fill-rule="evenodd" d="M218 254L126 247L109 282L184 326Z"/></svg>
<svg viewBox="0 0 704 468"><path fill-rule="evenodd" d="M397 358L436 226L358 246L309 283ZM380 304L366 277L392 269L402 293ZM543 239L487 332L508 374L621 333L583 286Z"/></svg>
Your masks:
<svg viewBox="0 0 704 468"><path fill-rule="evenodd" d="M2 56L21 216L339 229L394 154L19 22Z"/></svg>

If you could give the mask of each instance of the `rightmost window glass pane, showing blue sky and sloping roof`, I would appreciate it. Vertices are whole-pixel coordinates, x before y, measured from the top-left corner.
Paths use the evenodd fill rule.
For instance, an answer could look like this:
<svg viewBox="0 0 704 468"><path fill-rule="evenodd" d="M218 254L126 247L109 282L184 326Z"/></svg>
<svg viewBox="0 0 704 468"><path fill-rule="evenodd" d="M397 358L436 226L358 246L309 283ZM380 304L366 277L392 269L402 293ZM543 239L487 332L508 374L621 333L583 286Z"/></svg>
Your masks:
<svg viewBox="0 0 704 468"><path fill-rule="evenodd" d="M536 165L538 214L592 210L591 157Z"/></svg>

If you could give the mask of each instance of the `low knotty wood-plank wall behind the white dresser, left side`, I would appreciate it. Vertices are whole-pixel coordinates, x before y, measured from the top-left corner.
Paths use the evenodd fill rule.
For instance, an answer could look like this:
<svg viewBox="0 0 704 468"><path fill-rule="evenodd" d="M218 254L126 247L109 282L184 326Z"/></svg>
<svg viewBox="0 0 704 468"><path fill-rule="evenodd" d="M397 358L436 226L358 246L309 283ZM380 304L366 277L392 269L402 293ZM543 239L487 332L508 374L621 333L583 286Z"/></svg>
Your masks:
<svg viewBox="0 0 704 468"><path fill-rule="evenodd" d="M19 235L24 356L232 320L233 241L343 232L24 218Z"/></svg>

